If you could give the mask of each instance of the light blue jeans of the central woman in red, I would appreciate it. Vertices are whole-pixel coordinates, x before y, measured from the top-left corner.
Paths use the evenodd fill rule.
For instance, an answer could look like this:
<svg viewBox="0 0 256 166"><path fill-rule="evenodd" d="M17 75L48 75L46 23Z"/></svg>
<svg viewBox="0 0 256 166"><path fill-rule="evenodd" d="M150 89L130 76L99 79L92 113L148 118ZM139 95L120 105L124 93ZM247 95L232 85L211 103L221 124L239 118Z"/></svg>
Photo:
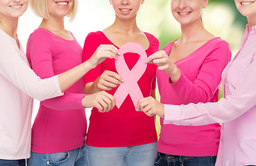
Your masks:
<svg viewBox="0 0 256 166"><path fill-rule="evenodd" d="M89 166L153 166L157 142L134 147L87 146Z"/></svg>

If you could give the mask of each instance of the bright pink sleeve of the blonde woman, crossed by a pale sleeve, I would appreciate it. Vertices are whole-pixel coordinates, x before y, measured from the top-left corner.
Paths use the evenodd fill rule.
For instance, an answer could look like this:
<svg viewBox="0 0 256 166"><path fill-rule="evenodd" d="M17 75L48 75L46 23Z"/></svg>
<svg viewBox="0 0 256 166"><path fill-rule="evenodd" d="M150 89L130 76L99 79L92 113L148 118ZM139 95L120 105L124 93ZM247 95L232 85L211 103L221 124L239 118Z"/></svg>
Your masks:
<svg viewBox="0 0 256 166"><path fill-rule="evenodd" d="M31 57L31 66L35 73L42 77L53 77L54 43L51 37L44 32L36 32L28 39L27 53ZM57 110L82 109L82 99L85 94L65 93L59 98L44 100L45 107Z"/></svg>

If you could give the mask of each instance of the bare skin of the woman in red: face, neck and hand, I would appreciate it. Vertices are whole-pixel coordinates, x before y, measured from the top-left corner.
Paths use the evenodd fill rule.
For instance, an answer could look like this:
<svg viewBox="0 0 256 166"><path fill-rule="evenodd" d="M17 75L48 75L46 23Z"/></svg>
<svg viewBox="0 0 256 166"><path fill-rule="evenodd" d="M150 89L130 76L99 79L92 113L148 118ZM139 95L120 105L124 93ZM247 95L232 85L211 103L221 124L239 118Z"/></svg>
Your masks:
<svg viewBox="0 0 256 166"><path fill-rule="evenodd" d="M146 35L137 27L136 17L144 0L110 0L116 19L114 24L105 28L103 33L119 48L127 42L136 42L145 50L149 47ZM112 71L104 71L94 82L85 84L85 93L110 91L124 82L123 78ZM155 98L155 90L151 96Z"/></svg>

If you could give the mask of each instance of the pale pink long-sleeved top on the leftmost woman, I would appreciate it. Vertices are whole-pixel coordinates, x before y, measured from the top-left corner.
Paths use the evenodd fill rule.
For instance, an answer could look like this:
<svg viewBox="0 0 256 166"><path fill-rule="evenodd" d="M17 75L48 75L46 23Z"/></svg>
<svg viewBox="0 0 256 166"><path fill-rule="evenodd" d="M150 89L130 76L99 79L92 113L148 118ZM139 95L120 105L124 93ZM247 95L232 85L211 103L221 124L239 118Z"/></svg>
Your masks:
<svg viewBox="0 0 256 166"><path fill-rule="evenodd" d="M19 46L0 29L0 158L8 160L31 155L33 98L62 95L58 77L37 77Z"/></svg>

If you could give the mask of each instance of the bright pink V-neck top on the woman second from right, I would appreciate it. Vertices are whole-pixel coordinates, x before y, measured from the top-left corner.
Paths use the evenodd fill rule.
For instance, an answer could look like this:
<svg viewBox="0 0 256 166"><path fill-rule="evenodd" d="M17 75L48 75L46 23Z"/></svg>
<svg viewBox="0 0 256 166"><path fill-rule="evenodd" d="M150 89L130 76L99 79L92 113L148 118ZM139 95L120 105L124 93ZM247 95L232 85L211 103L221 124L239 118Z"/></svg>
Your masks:
<svg viewBox="0 0 256 166"><path fill-rule="evenodd" d="M164 46L167 55L173 42ZM157 70L157 85L164 104L217 102L223 68L230 61L227 42L216 37L187 57L176 62L181 71L178 82L171 84L169 75ZM200 127L162 124L157 151L178 156L216 156L220 140L220 124Z"/></svg>

